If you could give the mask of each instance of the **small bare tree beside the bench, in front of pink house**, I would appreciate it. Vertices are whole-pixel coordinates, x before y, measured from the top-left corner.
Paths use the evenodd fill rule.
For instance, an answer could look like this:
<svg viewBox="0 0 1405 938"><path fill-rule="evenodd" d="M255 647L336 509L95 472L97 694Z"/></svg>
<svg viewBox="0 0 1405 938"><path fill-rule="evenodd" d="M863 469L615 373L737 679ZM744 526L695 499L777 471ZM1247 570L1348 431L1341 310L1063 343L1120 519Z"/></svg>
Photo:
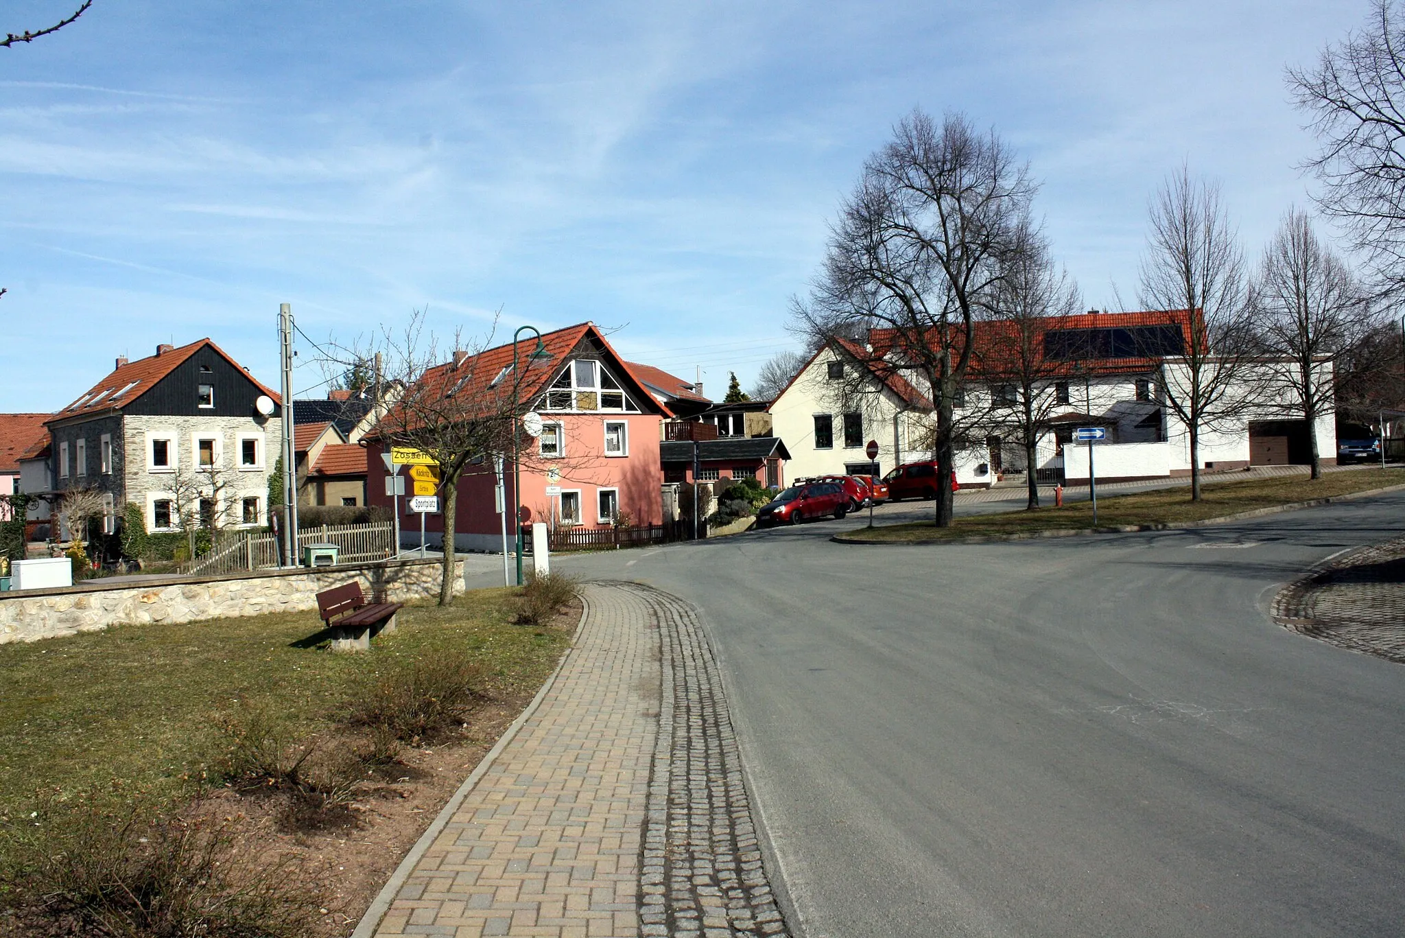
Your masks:
<svg viewBox="0 0 1405 938"><path fill-rule="evenodd" d="M444 560L438 603L454 600L454 533L458 530L458 481L475 465L492 465L495 453L513 451L513 420L518 409L516 374L499 374L497 364L485 364L482 352L492 336L466 347L462 333L454 335L444 360L438 342L424 333L424 309L414 311L403 330L382 332L385 375L402 388L385 411L378 433L391 446L426 453L440 473L443 501ZM365 360L361 352L347 361ZM528 367L527 354L521 368ZM511 366L511 359L507 359ZM493 374L483 371L488 368Z"/></svg>

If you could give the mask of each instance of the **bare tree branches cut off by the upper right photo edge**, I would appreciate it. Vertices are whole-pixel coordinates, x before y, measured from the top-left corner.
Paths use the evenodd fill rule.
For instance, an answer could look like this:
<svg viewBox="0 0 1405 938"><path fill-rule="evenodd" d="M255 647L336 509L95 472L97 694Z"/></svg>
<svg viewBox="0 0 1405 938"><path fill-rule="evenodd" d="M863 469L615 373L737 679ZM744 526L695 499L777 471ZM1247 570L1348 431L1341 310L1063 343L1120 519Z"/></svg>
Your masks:
<svg viewBox="0 0 1405 938"><path fill-rule="evenodd" d="M1377 290L1405 287L1405 28L1394 0L1373 0L1367 25L1324 49L1288 87L1322 143L1305 163L1318 204L1366 253Z"/></svg>

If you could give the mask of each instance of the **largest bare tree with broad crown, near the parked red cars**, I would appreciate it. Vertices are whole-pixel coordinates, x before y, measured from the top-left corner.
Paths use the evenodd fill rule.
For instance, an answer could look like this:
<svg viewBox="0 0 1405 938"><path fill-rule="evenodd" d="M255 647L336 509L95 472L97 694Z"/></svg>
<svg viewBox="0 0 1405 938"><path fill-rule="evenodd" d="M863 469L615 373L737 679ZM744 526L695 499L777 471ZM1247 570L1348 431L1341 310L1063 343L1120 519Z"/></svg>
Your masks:
<svg viewBox="0 0 1405 938"><path fill-rule="evenodd" d="M822 274L797 304L819 342L870 330L930 388L933 457L951 478L975 321L998 308L1005 257L1035 191L1028 169L993 131L961 114L940 124L915 110L868 158L832 226ZM875 342L875 345L878 345ZM951 487L939 484L936 523L951 523Z"/></svg>

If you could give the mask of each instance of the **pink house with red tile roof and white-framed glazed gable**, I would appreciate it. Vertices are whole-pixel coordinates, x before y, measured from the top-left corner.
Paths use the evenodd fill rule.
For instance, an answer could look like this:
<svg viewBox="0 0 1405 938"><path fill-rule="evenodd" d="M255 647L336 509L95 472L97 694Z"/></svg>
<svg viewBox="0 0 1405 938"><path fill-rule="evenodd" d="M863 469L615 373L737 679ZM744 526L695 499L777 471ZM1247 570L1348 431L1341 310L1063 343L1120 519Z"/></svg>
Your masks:
<svg viewBox="0 0 1405 938"><path fill-rule="evenodd" d="M659 525L663 520L663 467L659 461L660 423L670 416L593 323L542 335L549 359L527 367L535 338L517 345L521 366L518 413L535 411L542 433L521 456L521 503L531 520L554 527L606 529L615 525ZM513 345L445 363L426 374L426 381L451 387L454 374L513 390ZM490 384L496 381L497 384ZM469 390L472 391L472 390ZM372 432L371 437L375 437ZM371 505L391 506L385 495L382 439L367 440L367 494ZM507 530L513 537L513 467L506 465ZM500 518L493 498L492 460L471 467L458 484L458 550L502 550ZM559 494L547 494L548 487ZM400 499L402 541L419 543L420 516ZM441 515L426 518L430 543L443 537Z"/></svg>

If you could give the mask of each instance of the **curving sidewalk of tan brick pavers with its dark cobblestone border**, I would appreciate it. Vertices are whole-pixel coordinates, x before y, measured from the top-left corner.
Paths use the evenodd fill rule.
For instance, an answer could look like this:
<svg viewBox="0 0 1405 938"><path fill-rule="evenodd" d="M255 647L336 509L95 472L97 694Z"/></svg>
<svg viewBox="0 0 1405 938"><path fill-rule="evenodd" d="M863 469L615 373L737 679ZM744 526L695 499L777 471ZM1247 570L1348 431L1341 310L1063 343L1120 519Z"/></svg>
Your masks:
<svg viewBox="0 0 1405 938"><path fill-rule="evenodd" d="M584 602L538 709L358 934L785 935L695 613L635 584Z"/></svg>

